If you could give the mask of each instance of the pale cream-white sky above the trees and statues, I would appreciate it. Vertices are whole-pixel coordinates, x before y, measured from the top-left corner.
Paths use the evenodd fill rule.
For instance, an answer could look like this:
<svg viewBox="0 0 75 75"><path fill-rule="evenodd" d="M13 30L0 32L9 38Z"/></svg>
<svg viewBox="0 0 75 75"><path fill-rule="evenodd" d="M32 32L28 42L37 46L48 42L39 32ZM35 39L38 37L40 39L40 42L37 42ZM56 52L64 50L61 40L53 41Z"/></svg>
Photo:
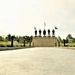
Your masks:
<svg viewBox="0 0 75 75"><path fill-rule="evenodd" d="M75 37L75 0L0 0L0 35L34 36L44 22L57 37Z"/></svg>

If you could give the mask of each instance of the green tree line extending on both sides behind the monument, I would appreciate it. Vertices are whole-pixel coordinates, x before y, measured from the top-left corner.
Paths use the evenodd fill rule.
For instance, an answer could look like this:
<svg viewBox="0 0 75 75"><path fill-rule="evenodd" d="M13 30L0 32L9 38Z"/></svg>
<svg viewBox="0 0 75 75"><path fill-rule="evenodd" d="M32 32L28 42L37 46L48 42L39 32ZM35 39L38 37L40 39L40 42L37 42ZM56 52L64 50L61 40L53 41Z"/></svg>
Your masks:
<svg viewBox="0 0 75 75"><path fill-rule="evenodd" d="M8 34L6 37L0 36L0 41L3 41L3 42L11 41L11 37L12 37L11 34ZM25 41L25 43L29 43L29 42L32 42L33 36L16 36L16 35L13 35L13 38L14 38L14 41L16 41L18 43L24 43L24 41ZM62 39L60 36L58 36L57 39L61 43L64 42L64 39ZM65 40L66 40L66 43L75 42L75 37L73 37L71 34L68 34L66 36Z"/></svg>

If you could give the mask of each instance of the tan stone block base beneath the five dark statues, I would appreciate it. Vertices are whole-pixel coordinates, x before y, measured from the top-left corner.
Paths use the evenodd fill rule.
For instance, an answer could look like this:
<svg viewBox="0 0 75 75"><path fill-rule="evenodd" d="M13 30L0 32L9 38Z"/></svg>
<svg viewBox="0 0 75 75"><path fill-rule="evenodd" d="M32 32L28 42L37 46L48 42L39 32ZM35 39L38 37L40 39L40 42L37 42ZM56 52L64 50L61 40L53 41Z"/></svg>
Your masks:
<svg viewBox="0 0 75 75"><path fill-rule="evenodd" d="M56 37L33 37L32 40L34 47L55 47L57 44Z"/></svg>

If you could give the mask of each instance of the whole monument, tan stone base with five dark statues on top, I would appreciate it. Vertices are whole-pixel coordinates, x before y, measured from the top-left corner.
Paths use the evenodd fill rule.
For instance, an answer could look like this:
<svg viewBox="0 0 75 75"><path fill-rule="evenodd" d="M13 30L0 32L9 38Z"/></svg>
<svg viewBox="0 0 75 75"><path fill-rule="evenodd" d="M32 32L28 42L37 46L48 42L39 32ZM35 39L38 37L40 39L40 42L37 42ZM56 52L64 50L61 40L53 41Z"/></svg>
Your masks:
<svg viewBox="0 0 75 75"><path fill-rule="evenodd" d="M50 35L50 29L48 29L48 36L46 36L46 30L39 30L39 35L37 35L37 30L35 30L35 37L33 37L32 44L34 47L55 47L58 46L57 38L55 37L55 30L52 30L52 37ZM44 37L41 36L43 34Z"/></svg>

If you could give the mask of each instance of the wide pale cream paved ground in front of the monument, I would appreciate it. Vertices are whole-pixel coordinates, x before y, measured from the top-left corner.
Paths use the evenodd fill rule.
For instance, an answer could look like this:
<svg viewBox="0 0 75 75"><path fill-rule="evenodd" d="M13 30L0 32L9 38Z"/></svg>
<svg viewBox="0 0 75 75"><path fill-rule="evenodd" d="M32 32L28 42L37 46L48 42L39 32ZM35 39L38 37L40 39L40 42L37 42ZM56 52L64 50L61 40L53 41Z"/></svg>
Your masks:
<svg viewBox="0 0 75 75"><path fill-rule="evenodd" d="M0 75L75 75L75 50L40 47L0 51Z"/></svg>

